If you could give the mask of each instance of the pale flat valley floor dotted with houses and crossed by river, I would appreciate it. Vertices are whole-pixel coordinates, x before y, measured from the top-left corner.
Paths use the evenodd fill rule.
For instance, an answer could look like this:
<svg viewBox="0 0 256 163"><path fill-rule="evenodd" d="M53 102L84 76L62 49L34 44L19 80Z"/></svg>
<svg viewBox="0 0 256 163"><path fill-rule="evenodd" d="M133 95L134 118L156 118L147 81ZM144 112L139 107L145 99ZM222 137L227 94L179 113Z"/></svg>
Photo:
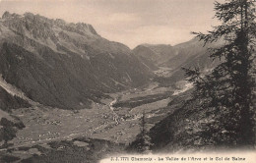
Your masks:
<svg viewBox="0 0 256 163"><path fill-rule="evenodd" d="M171 93L171 87L158 87L158 83L151 83L147 87L109 94L112 98L102 99L101 103L93 102L92 108L82 110L42 105L18 109L13 114L24 122L26 128L18 132L12 143L14 147L30 146L78 136L128 143L140 131L139 119L143 111L147 118L154 119L150 126L166 115L161 111L170 101ZM118 104L123 106L114 107Z"/></svg>

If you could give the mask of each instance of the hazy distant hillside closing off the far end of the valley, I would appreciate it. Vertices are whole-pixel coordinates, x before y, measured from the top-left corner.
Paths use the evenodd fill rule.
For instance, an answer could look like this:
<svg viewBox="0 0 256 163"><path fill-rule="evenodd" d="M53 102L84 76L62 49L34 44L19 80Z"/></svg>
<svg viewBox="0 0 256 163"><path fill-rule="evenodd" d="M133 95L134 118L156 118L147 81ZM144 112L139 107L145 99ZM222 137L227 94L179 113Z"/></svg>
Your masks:
<svg viewBox="0 0 256 163"><path fill-rule="evenodd" d="M174 46L142 44L133 49L133 52L143 63L153 68L157 75L160 75L156 81L165 85L185 79L182 67L196 66L204 71L215 67L220 61L212 62L208 49L222 44L223 41L218 41L204 46L203 41L193 38Z"/></svg>

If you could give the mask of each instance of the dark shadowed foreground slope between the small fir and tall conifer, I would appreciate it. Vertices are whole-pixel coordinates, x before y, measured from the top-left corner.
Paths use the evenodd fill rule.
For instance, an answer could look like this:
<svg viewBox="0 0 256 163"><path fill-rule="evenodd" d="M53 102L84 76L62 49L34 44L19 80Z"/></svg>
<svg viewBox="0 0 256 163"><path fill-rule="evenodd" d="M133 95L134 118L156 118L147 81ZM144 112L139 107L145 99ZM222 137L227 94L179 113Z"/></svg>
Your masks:
<svg viewBox="0 0 256 163"><path fill-rule="evenodd" d="M223 145L216 145L215 134L219 131L215 118L220 116L214 108L203 109L196 107L197 101L188 102L191 90L172 95L172 99L165 110L170 110L166 117L155 124L148 135L153 143L153 153L195 152L226 149L226 139ZM151 119L146 119L150 123ZM211 128L210 128L211 127ZM213 128L215 127L215 128ZM214 129L216 131L209 131ZM127 147L128 151L136 151L135 138ZM220 143L220 142L219 142Z"/></svg>

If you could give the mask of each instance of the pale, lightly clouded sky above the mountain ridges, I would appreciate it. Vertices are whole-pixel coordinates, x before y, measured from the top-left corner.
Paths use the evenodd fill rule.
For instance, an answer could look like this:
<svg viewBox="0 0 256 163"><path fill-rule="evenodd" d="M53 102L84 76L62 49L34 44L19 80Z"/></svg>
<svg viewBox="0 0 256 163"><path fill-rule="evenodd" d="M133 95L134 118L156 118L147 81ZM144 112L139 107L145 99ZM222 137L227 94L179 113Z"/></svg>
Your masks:
<svg viewBox="0 0 256 163"><path fill-rule="evenodd" d="M215 0L0 0L5 11L31 12L69 23L83 22L99 35L134 48L142 43L175 45L191 31L216 26Z"/></svg>

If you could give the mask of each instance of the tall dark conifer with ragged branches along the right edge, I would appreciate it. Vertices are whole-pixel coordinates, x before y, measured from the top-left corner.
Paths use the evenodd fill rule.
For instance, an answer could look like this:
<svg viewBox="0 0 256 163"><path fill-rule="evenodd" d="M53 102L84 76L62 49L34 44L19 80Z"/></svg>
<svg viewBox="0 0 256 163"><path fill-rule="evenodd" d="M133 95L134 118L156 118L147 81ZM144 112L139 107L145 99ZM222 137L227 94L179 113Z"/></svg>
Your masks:
<svg viewBox="0 0 256 163"><path fill-rule="evenodd" d="M255 0L225 0L215 3L216 18L222 22L208 34L193 32L205 44L224 40L224 45L209 49L213 60L221 63L205 75L198 68L185 69L194 83L192 100L198 108L215 114L209 125L216 145L253 147L254 133L254 46L256 37Z"/></svg>

